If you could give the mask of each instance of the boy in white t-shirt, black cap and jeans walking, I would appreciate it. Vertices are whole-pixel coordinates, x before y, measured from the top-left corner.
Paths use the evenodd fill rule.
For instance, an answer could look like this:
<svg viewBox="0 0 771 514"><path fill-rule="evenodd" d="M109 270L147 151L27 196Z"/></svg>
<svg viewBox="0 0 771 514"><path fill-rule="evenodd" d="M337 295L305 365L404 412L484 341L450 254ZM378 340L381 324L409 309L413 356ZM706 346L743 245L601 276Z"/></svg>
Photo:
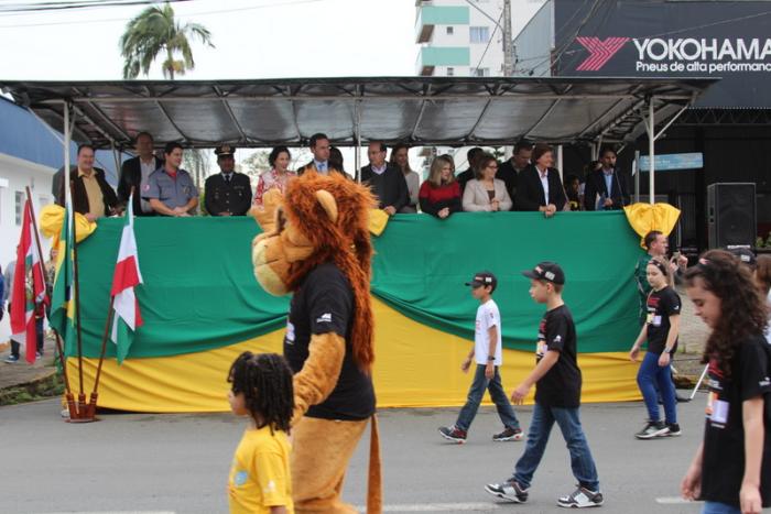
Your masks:
<svg viewBox="0 0 771 514"><path fill-rule="evenodd" d="M492 300L492 292L496 291L498 280L492 273L479 272L474 275L471 282L466 283L471 286L471 295L480 303L477 308L477 321L474 330L474 348L460 365L464 373L471 367L471 359L476 358L476 371L474 382L468 390L466 405L458 414L458 420L452 427L439 427L439 434L445 439L455 442L465 442L468 428L477 415L479 403L485 395L485 390L490 392L490 398L496 404L498 415L503 423L503 431L492 436L495 441L509 441L522 439L522 429L517 420L514 408L506 396L501 376L498 371L503 363L502 360L502 338L501 338L501 316L498 305Z"/></svg>

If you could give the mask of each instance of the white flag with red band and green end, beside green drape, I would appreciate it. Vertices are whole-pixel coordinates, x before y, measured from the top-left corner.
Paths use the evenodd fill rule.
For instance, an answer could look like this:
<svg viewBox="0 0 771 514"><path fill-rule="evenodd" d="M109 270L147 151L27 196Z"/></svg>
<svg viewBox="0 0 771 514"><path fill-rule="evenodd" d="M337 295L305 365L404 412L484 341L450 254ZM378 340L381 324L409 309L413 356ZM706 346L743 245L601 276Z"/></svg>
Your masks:
<svg viewBox="0 0 771 514"><path fill-rule="evenodd" d="M118 250L118 263L112 275L112 291L115 297L115 318L112 320L112 335L110 339L116 343L118 363L129 354L133 342L134 331L142 326L142 315L139 310L139 300L134 287L142 283L142 274L139 271L139 255L137 253L137 239L134 238L133 194L129 197L126 209L126 223L120 238Z"/></svg>

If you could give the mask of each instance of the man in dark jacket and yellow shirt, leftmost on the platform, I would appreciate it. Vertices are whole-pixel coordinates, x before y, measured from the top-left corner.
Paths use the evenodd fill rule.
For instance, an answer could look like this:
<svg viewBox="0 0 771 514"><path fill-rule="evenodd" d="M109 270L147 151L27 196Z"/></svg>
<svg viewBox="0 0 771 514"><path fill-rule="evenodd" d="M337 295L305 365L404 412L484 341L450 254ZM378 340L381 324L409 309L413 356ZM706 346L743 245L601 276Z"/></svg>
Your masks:
<svg viewBox="0 0 771 514"><path fill-rule="evenodd" d="M88 221L120 214L118 197L105 178L105 171L94 167L95 150L90 144L77 149L77 167L69 172L73 210L84 215ZM64 181L61 183L56 204L64 206Z"/></svg>

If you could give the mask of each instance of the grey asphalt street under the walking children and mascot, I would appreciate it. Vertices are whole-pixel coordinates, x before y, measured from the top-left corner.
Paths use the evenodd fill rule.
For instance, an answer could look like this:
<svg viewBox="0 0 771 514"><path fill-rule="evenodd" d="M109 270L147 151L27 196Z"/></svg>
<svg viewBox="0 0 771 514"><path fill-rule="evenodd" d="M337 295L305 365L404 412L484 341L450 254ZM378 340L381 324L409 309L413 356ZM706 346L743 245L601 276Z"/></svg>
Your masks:
<svg viewBox="0 0 771 514"><path fill-rule="evenodd" d="M704 398L680 405L681 437L650 441L633 438L645 418L642 403L582 407L606 495L600 512L699 511L677 490L702 437ZM457 411L380 413L386 512L565 512L555 501L575 481L556 427L529 502L512 505L482 486L510 475L523 441L493 442L500 422L484 407L465 445L446 442L436 429ZM526 429L531 407L518 415ZM107 414L70 425L61 420L58 401L0 407L0 513L227 512L227 473L243 426L228 414ZM356 505L365 502L367 440L345 488Z"/></svg>

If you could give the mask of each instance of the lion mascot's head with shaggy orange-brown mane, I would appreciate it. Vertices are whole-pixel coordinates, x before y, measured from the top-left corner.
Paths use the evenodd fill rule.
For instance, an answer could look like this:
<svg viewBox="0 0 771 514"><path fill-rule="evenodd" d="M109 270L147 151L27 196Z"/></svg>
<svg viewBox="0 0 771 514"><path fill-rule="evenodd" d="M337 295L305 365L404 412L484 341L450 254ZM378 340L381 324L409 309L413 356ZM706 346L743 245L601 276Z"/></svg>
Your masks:
<svg viewBox="0 0 771 514"><path fill-rule="evenodd" d="M341 175L305 173L290 181L283 196L271 189L263 196L263 208L252 209L263 229L252 241L254 277L268 293L296 291L305 275L325 262L334 262L346 275L356 307L354 359L366 371L374 359L368 218L376 206L368 188Z"/></svg>

